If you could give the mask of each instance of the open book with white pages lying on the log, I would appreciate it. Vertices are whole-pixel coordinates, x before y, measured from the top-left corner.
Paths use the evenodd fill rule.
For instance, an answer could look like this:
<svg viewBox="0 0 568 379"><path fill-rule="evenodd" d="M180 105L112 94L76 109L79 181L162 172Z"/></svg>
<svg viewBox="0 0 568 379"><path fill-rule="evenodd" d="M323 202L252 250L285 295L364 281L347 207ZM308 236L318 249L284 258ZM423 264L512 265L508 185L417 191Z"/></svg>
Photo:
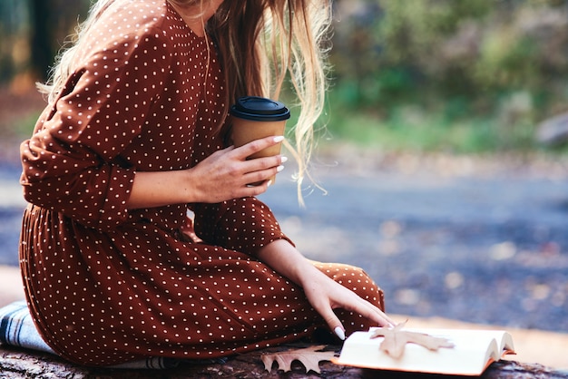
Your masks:
<svg viewBox="0 0 568 379"><path fill-rule="evenodd" d="M446 338L454 346L428 350L423 345L407 343L404 353L394 358L379 348L384 337L372 338L376 330L349 335L333 362L381 370L480 375L489 364L514 354L513 338L502 330L403 328L402 331Z"/></svg>

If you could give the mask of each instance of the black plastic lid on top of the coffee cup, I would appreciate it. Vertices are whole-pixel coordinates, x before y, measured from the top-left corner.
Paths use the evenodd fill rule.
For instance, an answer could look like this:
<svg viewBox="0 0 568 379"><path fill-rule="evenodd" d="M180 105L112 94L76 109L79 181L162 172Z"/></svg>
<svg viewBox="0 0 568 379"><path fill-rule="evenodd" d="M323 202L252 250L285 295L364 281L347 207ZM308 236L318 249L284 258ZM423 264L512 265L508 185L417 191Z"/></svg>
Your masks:
<svg viewBox="0 0 568 379"><path fill-rule="evenodd" d="M258 96L241 97L230 107L230 114L251 121L283 121L290 118L289 109L283 103Z"/></svg>

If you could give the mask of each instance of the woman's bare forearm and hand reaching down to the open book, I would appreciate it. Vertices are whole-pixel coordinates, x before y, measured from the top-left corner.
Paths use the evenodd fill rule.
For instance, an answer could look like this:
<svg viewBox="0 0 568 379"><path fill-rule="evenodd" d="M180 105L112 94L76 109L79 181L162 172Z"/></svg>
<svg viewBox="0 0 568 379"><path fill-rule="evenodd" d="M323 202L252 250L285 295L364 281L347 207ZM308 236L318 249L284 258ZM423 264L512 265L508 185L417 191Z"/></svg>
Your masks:
<svg viewBox="0 0 568 379"><path fill-rule="evenodd" d="M276 240L261 248L258 258L302 287L311 306L341 339L345 338L345 328L333 312L335 308L356 312L376 322L378 326L397 324L377 306L373 306L319 271L284 239Z"/></svg>

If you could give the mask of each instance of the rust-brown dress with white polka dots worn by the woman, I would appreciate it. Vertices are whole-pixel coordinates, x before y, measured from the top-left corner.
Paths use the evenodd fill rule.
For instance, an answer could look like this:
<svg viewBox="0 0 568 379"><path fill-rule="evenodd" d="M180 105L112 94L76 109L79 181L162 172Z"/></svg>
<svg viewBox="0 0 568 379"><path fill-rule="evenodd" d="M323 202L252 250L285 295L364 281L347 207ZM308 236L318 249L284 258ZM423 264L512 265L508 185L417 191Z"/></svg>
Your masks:
<svg viewBox="0 0 568 379"><path fill-rule="evenodd" d="M34 322L80 364L211 358L326 327L300 287L255 258L279 238L258 199L127 209L138 171L184 170L223 144L215 46L165 0L117 0L21 148L20 262ZM188 209L202 239L183 238ZM357 267L317 264L382 307ZM338 310L348 333L367 327Z"/></svg>

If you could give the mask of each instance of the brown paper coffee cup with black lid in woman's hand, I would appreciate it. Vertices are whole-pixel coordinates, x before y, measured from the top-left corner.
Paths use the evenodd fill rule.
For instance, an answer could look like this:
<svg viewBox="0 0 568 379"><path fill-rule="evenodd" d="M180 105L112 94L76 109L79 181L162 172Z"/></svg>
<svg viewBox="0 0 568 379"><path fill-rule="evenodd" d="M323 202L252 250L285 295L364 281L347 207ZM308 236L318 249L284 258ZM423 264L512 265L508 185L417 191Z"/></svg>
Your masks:
<svg viewBox="0 0 568 379"><path fill-rule="evenodd" d="M269 136L284 135L289 109L282 102L258 96L241 97L230 107L232 116L231 138L235 147ZM281 143L258 151L248 159L271 157L280 153ZM269 178L274 182L276 176ZM260 183L251 183L258 185Z"/></svg>

